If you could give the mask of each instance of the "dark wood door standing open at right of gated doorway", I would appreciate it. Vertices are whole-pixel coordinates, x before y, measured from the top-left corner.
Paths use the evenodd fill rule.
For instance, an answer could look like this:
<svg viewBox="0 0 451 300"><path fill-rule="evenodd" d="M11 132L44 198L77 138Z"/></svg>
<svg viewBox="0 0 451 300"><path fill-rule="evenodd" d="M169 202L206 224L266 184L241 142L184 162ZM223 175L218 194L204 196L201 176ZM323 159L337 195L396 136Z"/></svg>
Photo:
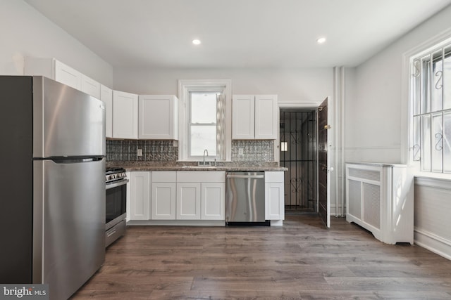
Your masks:
<svg viewBox="0 0 451 300"><path fill-rule="evenodd" d="M318 108L318 212L324 225L330 227L330 195L328 195L328 98Z"/></svg>

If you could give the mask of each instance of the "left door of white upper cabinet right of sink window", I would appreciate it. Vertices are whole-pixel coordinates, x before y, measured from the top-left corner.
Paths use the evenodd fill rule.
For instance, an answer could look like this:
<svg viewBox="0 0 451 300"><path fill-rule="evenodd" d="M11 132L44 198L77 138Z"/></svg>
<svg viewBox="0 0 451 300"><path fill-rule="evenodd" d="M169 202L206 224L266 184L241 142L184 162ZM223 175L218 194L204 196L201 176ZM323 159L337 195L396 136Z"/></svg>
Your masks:
<svg viewBox="0 0 451 300"><path fill-rule="evenodd" d="M255 100L253 95L233 95L232 138L249 140L255 136Z"/></svg>

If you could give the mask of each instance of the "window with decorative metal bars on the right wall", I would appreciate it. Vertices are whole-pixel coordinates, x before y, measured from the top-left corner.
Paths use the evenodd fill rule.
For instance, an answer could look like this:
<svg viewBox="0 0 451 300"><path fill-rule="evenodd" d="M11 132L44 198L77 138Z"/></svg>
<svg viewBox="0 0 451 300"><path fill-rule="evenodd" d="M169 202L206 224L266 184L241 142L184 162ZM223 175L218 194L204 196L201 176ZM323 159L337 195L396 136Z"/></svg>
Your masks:
<svg viewBox="0 0 451 300"><path fill-rule="evenodd" d="M451 174L451 42L411 59L411 159Z"/></svg>

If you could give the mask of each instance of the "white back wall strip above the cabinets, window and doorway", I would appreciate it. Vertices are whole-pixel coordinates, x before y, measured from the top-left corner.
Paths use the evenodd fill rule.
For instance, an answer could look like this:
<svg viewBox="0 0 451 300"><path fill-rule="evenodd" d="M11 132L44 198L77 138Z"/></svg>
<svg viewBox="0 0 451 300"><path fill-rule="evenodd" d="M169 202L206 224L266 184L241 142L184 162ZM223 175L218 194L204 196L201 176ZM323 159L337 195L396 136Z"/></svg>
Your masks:
<svg viewBox="0 0 451 300"><path fill-rule="evenodd" d="M231 79L234 94L277 94L279 103L319 105L333 93L332 68L114 69L114 87L138 94L178 94L178 79Z"/></svg>

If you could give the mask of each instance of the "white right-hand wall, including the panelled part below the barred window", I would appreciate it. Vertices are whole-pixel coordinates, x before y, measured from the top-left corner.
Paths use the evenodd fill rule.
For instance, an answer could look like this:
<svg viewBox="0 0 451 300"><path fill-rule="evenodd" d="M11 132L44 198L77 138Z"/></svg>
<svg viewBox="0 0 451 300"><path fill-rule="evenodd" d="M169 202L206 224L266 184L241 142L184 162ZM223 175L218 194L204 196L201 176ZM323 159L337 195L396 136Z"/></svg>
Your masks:
<svg viewBox="0 0 451 300"><path fill-rule="evenodd" d="M403 54L451 28L451 6L347 70L345 161L407 163L408 80ZM416 178L415 243L451 259L451 181Z"/></svg>

